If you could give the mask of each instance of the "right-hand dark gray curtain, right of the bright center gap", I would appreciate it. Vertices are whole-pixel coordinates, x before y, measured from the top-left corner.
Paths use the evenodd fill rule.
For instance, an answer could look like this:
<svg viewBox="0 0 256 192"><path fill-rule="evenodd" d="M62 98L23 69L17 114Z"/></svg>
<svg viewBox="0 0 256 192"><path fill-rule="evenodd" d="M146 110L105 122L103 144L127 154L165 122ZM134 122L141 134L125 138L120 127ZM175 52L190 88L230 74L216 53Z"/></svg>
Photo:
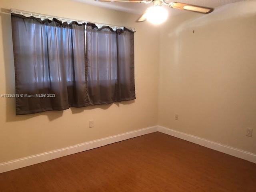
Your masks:
<svg viewBox="0 0 256 192"><path fill-rule="evenodd" d="M133 100L134 33L88 23L86 34L90 104Z"/></svg>

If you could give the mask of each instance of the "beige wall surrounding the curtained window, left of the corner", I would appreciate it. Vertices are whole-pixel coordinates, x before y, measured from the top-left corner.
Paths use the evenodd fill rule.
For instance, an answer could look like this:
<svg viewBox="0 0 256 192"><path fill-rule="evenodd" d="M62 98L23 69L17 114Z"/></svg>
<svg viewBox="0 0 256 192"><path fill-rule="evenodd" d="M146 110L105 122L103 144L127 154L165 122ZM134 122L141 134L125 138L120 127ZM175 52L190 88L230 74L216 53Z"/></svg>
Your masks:
<svg viewBox="0 0 256 192"><path fill-rule="evenodd" d="M137 31L134 102L15 116L15 100L0 98L0 162L156 125L158 31L147 23L135 23L138 15L69 0L0 0L0 8L1 94L13 93L15 86L11 20L5 9L131 26ZM91 119L94 128L88 128Z"/></svg>

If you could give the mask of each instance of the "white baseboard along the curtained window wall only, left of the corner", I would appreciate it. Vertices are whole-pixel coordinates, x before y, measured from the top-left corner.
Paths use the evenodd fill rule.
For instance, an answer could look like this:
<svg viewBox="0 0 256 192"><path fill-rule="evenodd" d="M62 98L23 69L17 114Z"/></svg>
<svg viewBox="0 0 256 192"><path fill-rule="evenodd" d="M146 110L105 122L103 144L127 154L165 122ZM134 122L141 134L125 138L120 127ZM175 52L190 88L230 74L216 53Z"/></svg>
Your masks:
<svg viewBox="0 0 256 192"><path fill-rule="evenodd" d="M0 173L11 171L11 170L22 168L22 167L26 167L26 166L30 166L30 165L34 165L34 164L38 164L38 163L45 162L48 160L52 160L52 159L67 156L70 154L75 154L78 152L90 150L93 148L97 148L97 147L101 147L104 145L119 142L122 140L142 136L142 135L149 134L149 133L156 132L156 131L157 131L157 126L148 127L148 128L144 128L144 129L140 129L140 130L135 130L135 131L126 132L123 134L118 134L115 136L110 136L110 137L90 141L90 142L85 142L85 143L70 146L67 148L62 148L62 149L58 149L58 150L54 150L54 151L50 151L50 152L46 152L46 153L42 153L42 154L32 155L32 156L28 156L25 158L12 160L9 162L4 162L4 163L0 164Z"/></svg>

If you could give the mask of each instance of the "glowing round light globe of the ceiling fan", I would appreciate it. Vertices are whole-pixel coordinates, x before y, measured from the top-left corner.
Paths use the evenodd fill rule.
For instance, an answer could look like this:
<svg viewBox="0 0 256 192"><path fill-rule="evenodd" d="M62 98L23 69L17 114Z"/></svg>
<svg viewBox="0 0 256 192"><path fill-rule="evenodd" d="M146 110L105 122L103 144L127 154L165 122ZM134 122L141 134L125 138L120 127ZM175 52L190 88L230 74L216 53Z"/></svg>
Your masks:
<svg viewBox="0 0 256 192"><path fill-rule="evenodd" d="M145 17L150 23L159 25L167 20L168 11L162 6L152 6L147 9Z"/></svg>

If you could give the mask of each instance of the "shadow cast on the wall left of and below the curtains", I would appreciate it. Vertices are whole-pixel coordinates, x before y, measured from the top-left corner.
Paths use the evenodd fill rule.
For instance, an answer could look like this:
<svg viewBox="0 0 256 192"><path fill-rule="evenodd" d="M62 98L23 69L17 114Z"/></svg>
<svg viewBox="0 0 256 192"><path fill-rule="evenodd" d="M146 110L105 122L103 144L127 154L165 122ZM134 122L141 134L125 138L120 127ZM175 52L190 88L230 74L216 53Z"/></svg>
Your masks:
<svg viewBox="0 0 256 192"><path fill-rule="evenodd" d="M4 51L4 74L6 82L6 90L3 94L15 93L15 74L14 74L14 57L13 57L13 47L12 47L12 26L11 26L11 16L8 9L0 8L0 18L2 21L2 40L3 40L3 51ZM37 114L19 115L16 116L15 111L15 98L2 98L6 99L6 122L22 121L37 116L47 116L50 121L62 117L63 111L46 111ZM121 104L131 104L134 100L124 101ZM113 103L117 106L120 103ZM70 108L72 114L77 114L81 112L86 112L88 110L93 110L100 108L106 110L110 108L112 104L104 104L97 106L86 106L82 108Z"/></svg>

